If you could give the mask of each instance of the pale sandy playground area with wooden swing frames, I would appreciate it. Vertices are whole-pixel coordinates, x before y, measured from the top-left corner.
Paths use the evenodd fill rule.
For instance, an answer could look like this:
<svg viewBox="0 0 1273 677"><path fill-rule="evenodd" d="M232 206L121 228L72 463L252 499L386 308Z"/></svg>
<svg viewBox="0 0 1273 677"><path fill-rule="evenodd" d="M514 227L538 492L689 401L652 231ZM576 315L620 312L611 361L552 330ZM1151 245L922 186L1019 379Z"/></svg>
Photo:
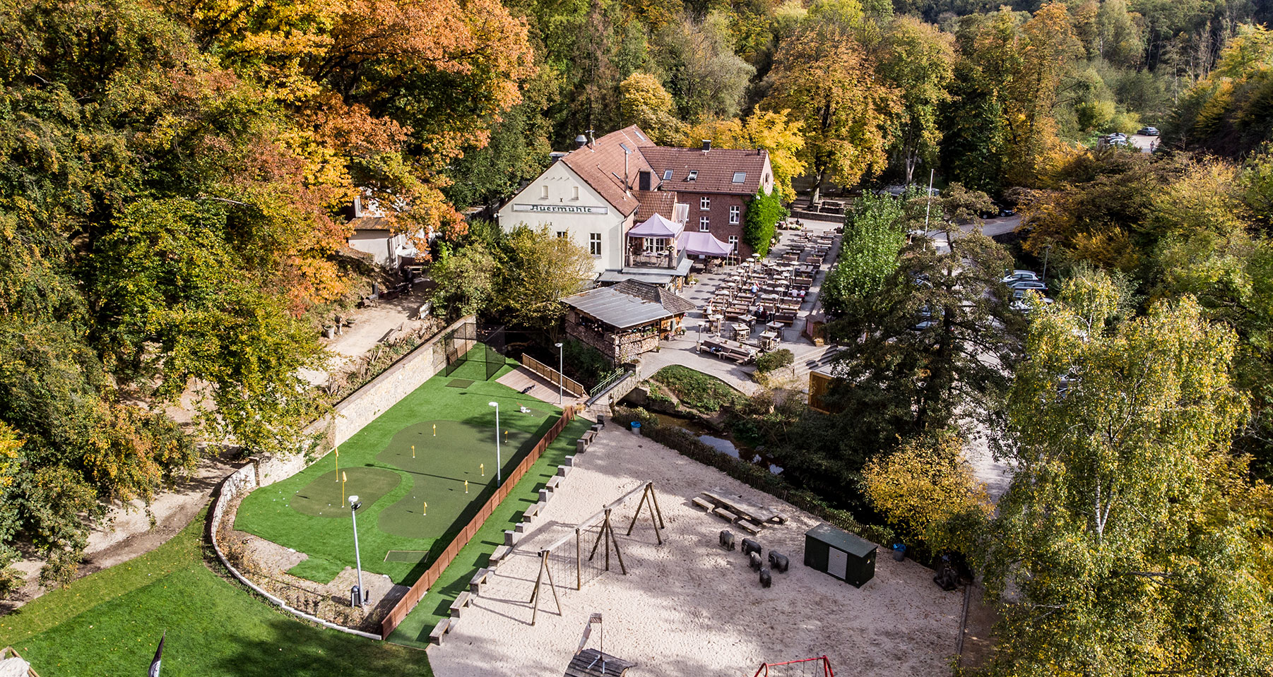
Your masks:
<svg viewBox="0 0 1273 677"><path fill-rule="evenodd" d="M538 573L537 551L626 490L652 480L666 522L656 545L643 513L624 537L636 501L617 510L628 575L602 574L582 590L556 580L558 613L550 593L531 625L528 599ZM788 555L791 570L774 573L764 589L741 550L726 551L718 533L727 524L691 504L701 491L741 495L782 510L788 522L756 537L765 552ZM948 674L962 596L945 593L932 571L896 562L883 548L875 579L861 589L803 565L805 532L820 520L756 491L723 472L690 461L614 425L575 459L544 514L533 522L475 598L429 650L439 677L563 674L593 612L603 615L605 650L640 676L747 676L763 662L826 654L847 674ZM733 528L736 538L746 536ZM598 648L593 632L589 648Z"/></svg>

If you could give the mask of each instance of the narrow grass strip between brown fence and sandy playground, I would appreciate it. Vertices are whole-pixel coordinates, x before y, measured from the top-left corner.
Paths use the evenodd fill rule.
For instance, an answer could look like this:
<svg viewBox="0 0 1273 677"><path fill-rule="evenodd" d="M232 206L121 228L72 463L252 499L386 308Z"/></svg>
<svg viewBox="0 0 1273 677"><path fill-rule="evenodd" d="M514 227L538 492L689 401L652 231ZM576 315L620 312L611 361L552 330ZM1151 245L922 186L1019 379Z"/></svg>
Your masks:
<svg viewBox="0 0 1273 677"><path fill-rule="evenodd" d="M540 489L556 475L556 467L565 457L574 453L575 440L589 428L592 421L575 419L561 430L558 439L544 450L544 456L517 482L504 503L499 504L490 519L477 529L468 545L460 550L456 560L447 566L424 599L390 634L390 641L418 648L428 645L429 632L438 621L451 615L451 603L461 592L468 589L468 579L474 571L486 566L490 554L504 545L504 529L512 528L521 520L522 513L540 500Z"/></svg>

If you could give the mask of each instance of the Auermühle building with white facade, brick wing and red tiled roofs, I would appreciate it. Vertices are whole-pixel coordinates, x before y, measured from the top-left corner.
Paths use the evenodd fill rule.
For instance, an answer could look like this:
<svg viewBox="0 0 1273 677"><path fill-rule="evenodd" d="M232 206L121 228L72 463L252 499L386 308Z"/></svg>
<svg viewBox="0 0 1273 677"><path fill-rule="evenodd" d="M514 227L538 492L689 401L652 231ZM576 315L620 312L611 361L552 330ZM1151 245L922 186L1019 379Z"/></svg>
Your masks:
<svg viewBox="0 0 1273 677"><path fill-rule="evenodd" d="M577 144L554 154L556 162L499 210L505 230L546 227L572 238L592 253L603 283L676 286L689 272L676 237L629 237L654 215L751 255L742 223L751 199L774 188L766 151L713 149L707 140L703 148L659 146L635 125Z"/></svg>

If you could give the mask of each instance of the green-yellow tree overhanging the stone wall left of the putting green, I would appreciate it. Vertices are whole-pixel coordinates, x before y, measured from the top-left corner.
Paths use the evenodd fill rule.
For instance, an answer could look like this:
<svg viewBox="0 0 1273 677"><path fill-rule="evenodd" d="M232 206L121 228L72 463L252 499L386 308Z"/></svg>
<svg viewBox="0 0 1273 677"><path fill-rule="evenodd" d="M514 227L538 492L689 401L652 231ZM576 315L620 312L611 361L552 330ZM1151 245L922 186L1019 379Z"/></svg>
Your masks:
<svg viewBox="0 0 1273 677"><path fill-rule="evenodd" d="M94 252L90 295L103 350L153 394L192 383L207 430L265 452L295 449L316 416L298 370L318 364L312 330L267 294L227 242L215 201L140 200Z"/></svg>

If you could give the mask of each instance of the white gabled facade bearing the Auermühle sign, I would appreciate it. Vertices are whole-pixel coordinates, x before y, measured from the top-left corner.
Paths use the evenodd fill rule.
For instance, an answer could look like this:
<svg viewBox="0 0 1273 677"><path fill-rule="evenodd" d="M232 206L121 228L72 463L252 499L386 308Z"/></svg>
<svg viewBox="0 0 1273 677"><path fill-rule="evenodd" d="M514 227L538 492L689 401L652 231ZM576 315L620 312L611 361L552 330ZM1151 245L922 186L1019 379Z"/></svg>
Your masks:
<svg viewBox="0 0 1273 677"><path fill-rule="evenodd" d="M499 210L499 227L504 232L526 225L565 233L564 237L592 255L597 272L624 266L624 233L631 228L631 214L625 216L560 160Z"/></svg>

